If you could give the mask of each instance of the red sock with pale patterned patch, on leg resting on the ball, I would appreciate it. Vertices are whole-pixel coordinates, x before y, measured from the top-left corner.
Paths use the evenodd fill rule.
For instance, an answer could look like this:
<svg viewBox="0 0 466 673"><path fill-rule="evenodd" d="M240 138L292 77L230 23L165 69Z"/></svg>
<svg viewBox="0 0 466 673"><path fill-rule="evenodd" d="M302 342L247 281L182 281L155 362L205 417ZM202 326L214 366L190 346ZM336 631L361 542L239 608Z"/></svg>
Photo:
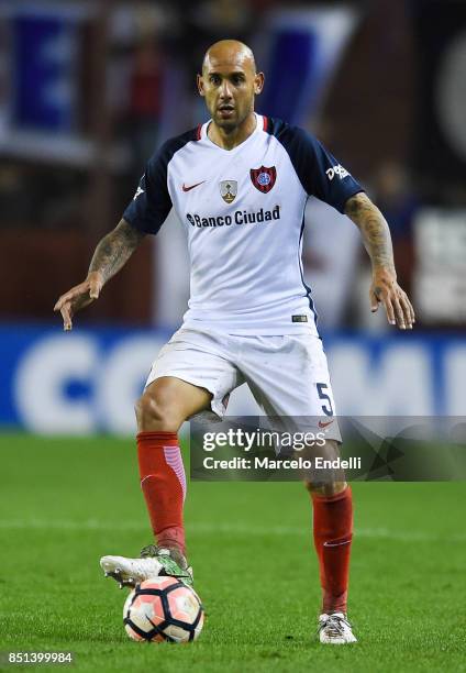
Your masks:
<svg viewBox="0 0 466 673"><path fill-rule="evenodd" d="M182 506L186 476L176 432L138 432L141 487L159 547L186 553Z"/></svg>

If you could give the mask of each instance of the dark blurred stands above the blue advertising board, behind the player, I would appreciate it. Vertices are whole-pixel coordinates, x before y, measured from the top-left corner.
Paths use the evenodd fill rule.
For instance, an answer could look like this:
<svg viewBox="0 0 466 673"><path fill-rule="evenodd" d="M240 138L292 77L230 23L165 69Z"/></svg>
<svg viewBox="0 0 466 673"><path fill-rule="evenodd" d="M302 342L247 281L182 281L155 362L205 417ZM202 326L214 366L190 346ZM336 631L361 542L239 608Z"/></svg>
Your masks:
<svg viewBox="0 0 466 673"><path fill-rule="evenodd" d="M464 328L464 3L63 0L47 20L51 7L0 8L1 320L54 320L57 295L85 277L155 146L206 120L196 73L206 47L231 36L266 73L258 111L292 114L385 212L420 328ZM323 329L386 329L368 310L355 228L315 202L307 220ZM143 243L84 322L176 327L188 288L175 225Z"/></svg>

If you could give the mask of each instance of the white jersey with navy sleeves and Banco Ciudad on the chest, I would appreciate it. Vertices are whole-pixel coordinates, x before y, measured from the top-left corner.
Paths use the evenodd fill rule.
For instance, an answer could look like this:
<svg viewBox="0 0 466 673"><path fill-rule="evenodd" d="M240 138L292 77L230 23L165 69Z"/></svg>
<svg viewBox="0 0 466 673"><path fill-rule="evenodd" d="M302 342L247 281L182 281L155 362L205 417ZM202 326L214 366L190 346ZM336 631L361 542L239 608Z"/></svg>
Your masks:
<svg viewBox="0 0 466 673"><path fill-rule="evenodd" d="M306 202L313 195L343 212L362 187L306 131L258 114L256 121L230 151L208 137L210 122L167 141L123 217L156 233L175 208L191 265L185 327L317 334L302 276Z"/></svg>

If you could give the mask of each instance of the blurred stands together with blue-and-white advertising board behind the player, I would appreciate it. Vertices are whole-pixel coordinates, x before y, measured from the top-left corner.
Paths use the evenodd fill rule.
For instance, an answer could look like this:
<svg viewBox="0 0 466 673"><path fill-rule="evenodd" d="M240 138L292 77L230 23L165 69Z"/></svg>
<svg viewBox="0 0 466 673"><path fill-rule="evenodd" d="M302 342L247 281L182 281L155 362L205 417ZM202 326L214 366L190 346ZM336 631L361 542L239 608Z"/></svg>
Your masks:
<svg viewBox="0 0 466 673"><path fill-rule="evenodd" d="M154 147L203 121L206 47L252 45L259 112L314 132L386 213L418 323L371 316L356 229L314 199L304 263L341 413L462 415L466 397L466 2L0 2L0 424L131 434L188 295L171 216L71 333L84 279ZM381 313L381 311L380 311ZM238 391L231 411L254 412Z"/></svg>

